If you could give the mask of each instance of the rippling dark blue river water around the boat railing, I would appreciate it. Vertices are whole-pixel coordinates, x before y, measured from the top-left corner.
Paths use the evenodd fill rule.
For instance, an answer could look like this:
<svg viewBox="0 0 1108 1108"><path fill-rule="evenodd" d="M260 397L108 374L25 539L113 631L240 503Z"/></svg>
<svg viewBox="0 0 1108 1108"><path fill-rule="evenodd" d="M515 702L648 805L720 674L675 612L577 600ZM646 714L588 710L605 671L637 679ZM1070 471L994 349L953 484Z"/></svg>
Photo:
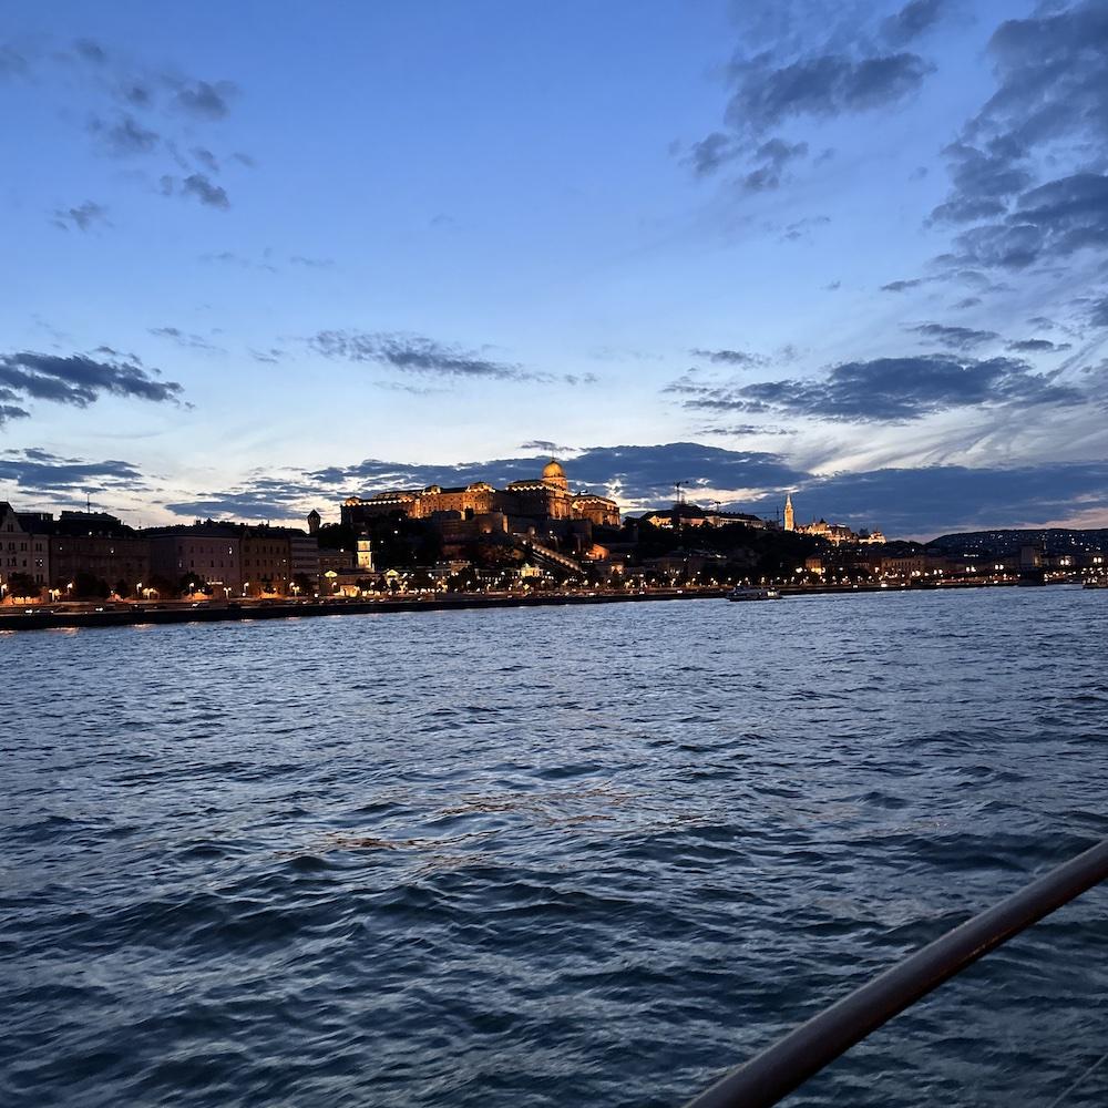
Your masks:
<svg viewBox="0 0 1108 1108"><path fill-rule="evenodd" d="M680 1104L1108 835L1104 599L3 636L0 1102ZM790 1102L1048 1104L1106 911Z"/></svg>

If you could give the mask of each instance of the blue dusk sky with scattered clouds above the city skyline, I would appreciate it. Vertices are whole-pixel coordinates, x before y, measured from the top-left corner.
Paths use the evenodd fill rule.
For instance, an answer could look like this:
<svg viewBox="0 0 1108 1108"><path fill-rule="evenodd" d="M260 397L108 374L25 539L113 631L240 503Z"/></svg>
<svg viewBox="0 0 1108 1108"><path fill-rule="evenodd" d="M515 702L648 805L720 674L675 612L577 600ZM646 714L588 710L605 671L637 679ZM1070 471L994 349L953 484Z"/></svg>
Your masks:
<svg viewBox="0 0 1108 1108"><path fill-rule="evenodd" d="M1108 526L1108 4L4 0L0 499Z"/></svg>

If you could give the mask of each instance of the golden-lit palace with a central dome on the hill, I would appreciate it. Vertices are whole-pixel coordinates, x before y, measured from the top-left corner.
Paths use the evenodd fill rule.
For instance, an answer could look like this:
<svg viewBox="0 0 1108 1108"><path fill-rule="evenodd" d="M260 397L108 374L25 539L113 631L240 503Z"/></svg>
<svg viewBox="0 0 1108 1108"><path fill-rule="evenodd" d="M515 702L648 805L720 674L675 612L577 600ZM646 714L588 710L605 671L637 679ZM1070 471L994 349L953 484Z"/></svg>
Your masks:
<svg viewBox="0 0 1108 1108"><path fill-rule="evenodd" d="M565 470L554 459L541 476L513 481L494 489L485 481L458 489L428 485L424 489L393 489L362 499L351 496L342 504L342 522L359 527L369 520L399 512L412 520L476 521L485 517L494 530L525 530L514 521L531 525L550 521L588 521L595 526L619 526L619 507L614 500L591 493L574 493Z"/></svg>

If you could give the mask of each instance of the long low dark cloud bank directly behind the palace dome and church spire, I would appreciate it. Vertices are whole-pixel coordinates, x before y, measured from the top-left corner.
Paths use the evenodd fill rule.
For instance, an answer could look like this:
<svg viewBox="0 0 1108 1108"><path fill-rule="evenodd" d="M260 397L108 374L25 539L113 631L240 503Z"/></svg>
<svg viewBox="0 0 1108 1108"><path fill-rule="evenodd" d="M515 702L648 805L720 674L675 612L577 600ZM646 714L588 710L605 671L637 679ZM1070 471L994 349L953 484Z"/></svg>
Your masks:
<svg viewBox="0 0 1108 1108"><path fill-rule="evenodd" d="M856 527L881 527L893 536L1034 526L1086 511L1108 511L1108 462L1013 469L937 465L819 476L790 466L773 453L675 442L594 447L565 466L573 488L603 491L625 503L670 503L674 482L680 481L690 499L729 494L733 507L772 515L786 491L791 491L801 520L822 515ZM367 459L288 476L258 475L229 491L167 506L185 517L296 520L309 505L337 504L347 495L474 481L503 488L535 478L540 469L541 459L533 456L456 465Z"/></svg>

